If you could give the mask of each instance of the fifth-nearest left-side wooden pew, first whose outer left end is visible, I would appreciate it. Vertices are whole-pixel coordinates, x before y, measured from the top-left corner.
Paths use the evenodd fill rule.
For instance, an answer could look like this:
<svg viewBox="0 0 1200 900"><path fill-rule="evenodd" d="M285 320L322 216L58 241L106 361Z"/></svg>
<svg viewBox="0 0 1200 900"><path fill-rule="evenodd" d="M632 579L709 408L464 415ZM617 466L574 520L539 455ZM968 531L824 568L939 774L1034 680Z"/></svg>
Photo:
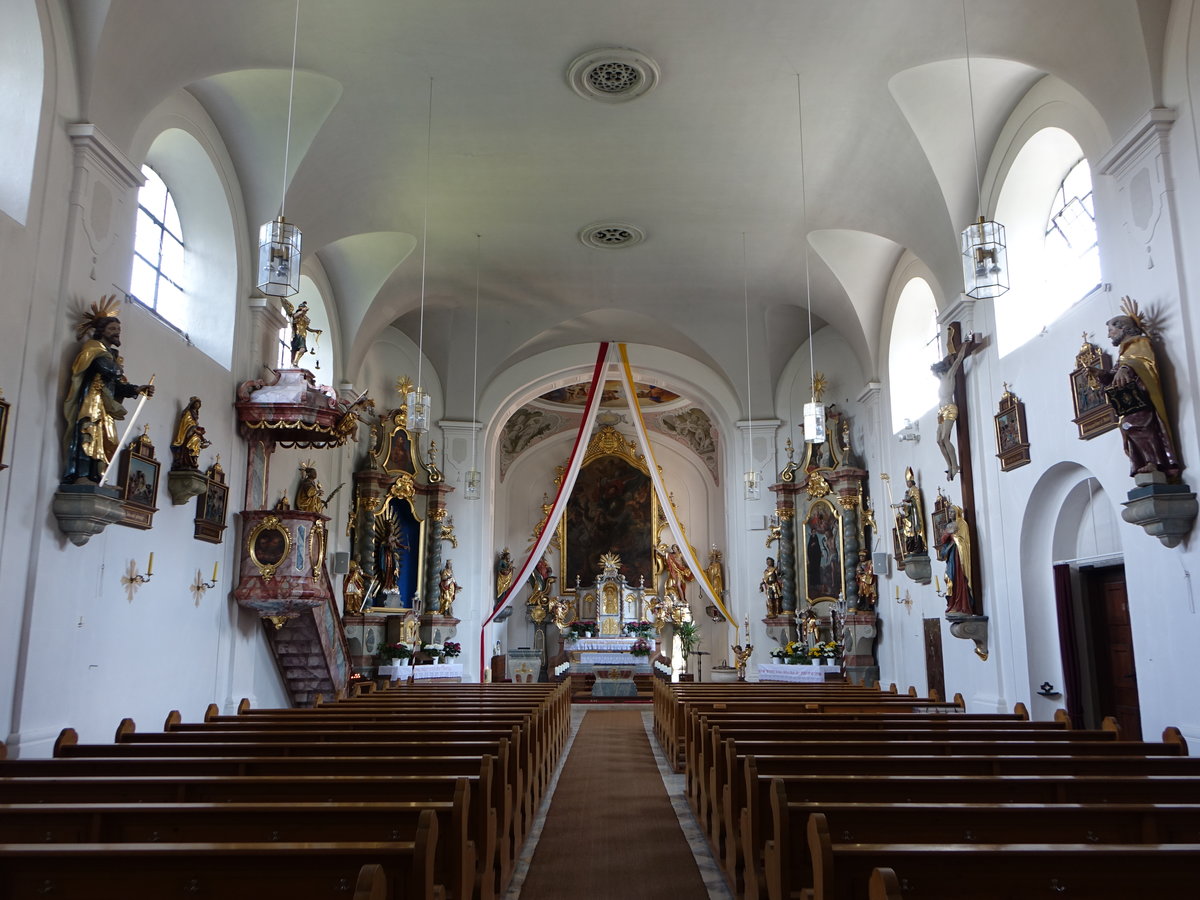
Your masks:
<svg viewBox="0 0 1200 900"><path fill-rule="evenodd" d="M336 733L336 732L332 732ZM533 794L532 768L528 760L512 752L512 740L520 739L518 730L506 732L508 737L496 737L480 740L456 740L437 734L434 738L419 739L414 733L386 736L371 732L374 739L358 739L361 736L348 733L332 740L320 739L323 734L313 731L304 736L281 736L262 738L260 736L241 734L240 739L223 742L188 740L191 734L160 733L158 740L134 740L137 732L126 732L115 744L79 744L74 731L65 728L55 743L56 758L122 758L122 757L192 757L192 756L280 756L280 757L362 757L388 758L397 756L436 757L436 756L494 756L498 761L497 778L511 787L512 792L512 828L511 854L520 851L532 823ZM328 733L325 734L328 736ZM142 736L143 738L150 736ZM347 739L348 738L348 739Z"/></svg>

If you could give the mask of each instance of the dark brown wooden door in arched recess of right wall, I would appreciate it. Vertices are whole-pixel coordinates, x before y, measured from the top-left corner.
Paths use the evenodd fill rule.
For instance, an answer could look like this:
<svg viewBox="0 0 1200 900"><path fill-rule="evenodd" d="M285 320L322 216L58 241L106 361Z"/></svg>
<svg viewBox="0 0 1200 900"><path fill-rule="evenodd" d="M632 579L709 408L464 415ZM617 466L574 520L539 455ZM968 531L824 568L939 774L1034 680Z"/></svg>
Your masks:
<svg viewBox="0 0 1200 900"><path fill-rule="evenodd" d="M1116 716L1121 736L1141 740L1141 707L1138 700L1138 667L1129 624L1129 598L1124 566L1084 571L1088 607L1091 650L1096 661L1096 696L1100 716Z"/></svg>

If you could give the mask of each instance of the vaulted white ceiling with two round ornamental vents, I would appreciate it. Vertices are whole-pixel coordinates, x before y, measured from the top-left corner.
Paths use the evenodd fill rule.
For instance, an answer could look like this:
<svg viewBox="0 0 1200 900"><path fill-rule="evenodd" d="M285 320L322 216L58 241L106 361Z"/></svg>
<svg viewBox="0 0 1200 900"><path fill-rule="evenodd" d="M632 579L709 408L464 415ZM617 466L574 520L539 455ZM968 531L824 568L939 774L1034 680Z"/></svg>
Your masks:
<svg viewBox="0 0 1200 900"><path fill-rule="evenodd" d="M188 90L224 136L247 228L277 214L292 0L70 8L86 119L126 146ZM1110 133L1154 106L1168 8L967 0L980 166L1045 74ZM571 61L606 47L653 59L654 89L576 94ZM442 373L472 364L478 234L481 379L619 338L704 360L744 396L743 292L766 348L757 396L806 336L769 323L809 302L877 376L900 254L942 296L961 289L976 200L964 47L959 0L304 0L287 215L335 290L346 377L382 329L416 338L426 203L424 347ZM584 246L604 221L644 241Z"/></svg>

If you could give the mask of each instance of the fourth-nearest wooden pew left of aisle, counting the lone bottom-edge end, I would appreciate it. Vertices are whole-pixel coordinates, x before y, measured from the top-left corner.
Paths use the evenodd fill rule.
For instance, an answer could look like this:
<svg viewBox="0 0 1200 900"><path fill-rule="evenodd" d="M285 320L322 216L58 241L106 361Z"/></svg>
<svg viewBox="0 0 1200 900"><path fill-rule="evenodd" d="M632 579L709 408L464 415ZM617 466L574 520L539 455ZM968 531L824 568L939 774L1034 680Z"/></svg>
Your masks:
<svg viewBox="0 0 1200 900"><path fill-rule="evenodd" d="M14 761L18 766L26 761ZM30 763L59 761L28 761ZM67 769L76 762L61 761ZM146 762L155 761L98 761ZM188 761L181 761L188 762ZM290 763L292 760L280 762ZM312 761L307 761L312 762ZM317 761L322 762L322 761ZM358 762L358 761L355 761ZM4 763L11 770L13 762ZM394 772L384 766L379 773ZM7 804L73 804L80 811L97 804L274 804L304 797L330 804L452 804L460 782L468 782L470 798L486 798L480 779L452 775L329 774L25 774L0 778L0 802ZM475 895L492 898L503 892L512 874L511 841L506 840L497 810L482 799L467 804L466 829L475 848ZM449 824L449 821L448 821ZM353 829L347 835L356 834ZM499 854L499 856L498 856Z"/></svg>

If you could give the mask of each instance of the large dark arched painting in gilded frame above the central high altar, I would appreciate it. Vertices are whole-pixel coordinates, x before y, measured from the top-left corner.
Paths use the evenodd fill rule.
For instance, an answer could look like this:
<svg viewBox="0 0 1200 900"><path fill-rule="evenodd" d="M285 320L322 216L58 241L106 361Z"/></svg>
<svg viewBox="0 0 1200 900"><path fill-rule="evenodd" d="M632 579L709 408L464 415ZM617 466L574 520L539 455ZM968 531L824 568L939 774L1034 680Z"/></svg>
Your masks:
<svg viewBox="0 0 1200 900"><path fill-rule="evenodd" d="M656 505L649 473L624 454L584 462L559 526L563 589L574 590L576 576L592 584L605 553L620 557L618 571L629 584L644 577L653 588Z"/></svg>

